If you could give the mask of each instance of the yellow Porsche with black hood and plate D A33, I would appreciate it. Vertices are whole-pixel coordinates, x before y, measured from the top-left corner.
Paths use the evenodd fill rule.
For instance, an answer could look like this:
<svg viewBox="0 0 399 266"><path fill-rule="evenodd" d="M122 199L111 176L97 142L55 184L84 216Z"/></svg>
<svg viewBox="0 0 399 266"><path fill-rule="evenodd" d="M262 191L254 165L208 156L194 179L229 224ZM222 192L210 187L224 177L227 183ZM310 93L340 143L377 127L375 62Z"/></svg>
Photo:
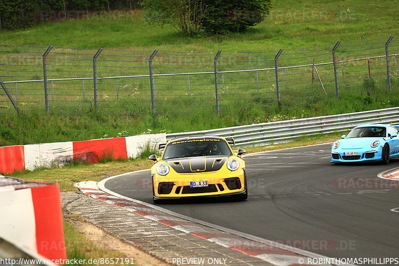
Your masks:
<svg viewBox="0 0 399 266"><path fill-rule="evenodd" d="M162 200L196 197L232 197L246 200L248 196L245 150L231 150L223 137L184 137L160 144L161 158L155 154L151 168L154 203Z"/></svg>

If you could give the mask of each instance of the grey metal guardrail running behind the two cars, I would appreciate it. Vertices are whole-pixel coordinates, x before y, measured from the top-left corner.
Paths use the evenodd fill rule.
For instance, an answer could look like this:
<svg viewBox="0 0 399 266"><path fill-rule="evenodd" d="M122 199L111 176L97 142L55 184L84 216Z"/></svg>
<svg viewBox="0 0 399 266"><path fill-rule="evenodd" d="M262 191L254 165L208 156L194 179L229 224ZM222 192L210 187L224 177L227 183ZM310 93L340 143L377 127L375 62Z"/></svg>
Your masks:
<svg viewBox="0 0 399 266"><path fill-rule="evenodd" d="M173 133L167 134L166 138L167 140L170 140L186 136L214 135L233 137L236 143L235 146L237 147L263 146L289 142L294 138L306 135L346 131L361 124L396 122L399 122L399 107L237 127Z"/></svg>

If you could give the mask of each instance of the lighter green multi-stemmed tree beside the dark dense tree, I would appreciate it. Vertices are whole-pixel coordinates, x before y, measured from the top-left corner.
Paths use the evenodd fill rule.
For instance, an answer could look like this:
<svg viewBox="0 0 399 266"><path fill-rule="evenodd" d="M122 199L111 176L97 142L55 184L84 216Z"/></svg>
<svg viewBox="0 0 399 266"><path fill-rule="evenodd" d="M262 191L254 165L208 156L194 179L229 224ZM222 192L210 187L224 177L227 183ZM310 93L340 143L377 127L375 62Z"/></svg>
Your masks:
<svg viewBox="0 0 399 266"><path fill-rule="evenodd" d="M206 11L205 0L142 0L147 21L170 23L187 35L198 32Z"/></svg>

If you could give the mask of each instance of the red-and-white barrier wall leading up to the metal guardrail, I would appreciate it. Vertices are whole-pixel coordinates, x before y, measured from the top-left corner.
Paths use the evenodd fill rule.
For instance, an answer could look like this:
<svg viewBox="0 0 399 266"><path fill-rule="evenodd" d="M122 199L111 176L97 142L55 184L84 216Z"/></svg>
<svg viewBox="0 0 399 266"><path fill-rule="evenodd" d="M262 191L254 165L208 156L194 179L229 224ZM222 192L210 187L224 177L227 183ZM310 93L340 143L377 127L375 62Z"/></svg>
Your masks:
<svg viewBox="0 0 399 266"><path fill-rule="evenodd" d="M166 143L166 134L134 135L56 143L0 147L0 173L33 171L39 167L63 166L72 161L98 163L104 156L114 159L136 158L146 145ZM110 154L111 153L111 154Z"/></svg>

